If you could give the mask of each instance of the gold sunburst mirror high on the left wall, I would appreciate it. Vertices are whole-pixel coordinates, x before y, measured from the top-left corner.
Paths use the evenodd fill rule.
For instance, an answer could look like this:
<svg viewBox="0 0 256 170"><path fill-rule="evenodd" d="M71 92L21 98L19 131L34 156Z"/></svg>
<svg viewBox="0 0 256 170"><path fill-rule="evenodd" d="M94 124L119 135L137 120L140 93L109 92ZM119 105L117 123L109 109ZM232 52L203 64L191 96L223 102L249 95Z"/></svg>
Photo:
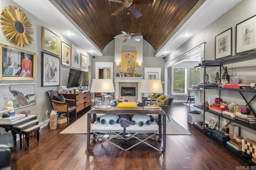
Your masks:
<svg viewBox="0 0 256 170"><path fill-rule="evenodd" d="M2 30L5 36L14 44L26 47L33 41L33 27L26 14L15 6L5 7L1 13Z"/></svg>

